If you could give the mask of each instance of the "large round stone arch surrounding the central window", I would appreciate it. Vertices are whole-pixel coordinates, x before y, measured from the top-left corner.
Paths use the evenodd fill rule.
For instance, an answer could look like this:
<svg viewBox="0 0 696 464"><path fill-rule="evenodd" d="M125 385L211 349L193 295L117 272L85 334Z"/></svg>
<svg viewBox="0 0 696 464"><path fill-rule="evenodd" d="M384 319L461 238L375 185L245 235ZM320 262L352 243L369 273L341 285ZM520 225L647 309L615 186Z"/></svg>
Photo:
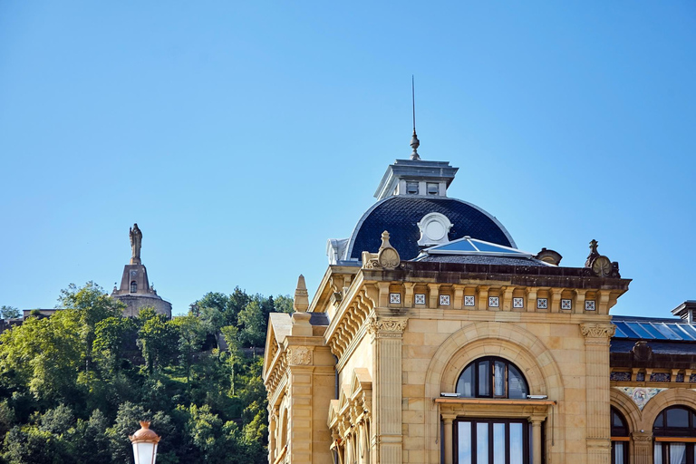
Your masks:
<svg viewBox="0 0 696 464"><path fill-rule="evenodd" d="M452 333L440 344L430 360L425 376L425 437L423 449L426 462L437 464L440 451L440 418L438 408L431 401L440 391L453 391L459 372L481 356L500 356L524 372L533 394L545 394L559 401L556 406L556 449L563 453L564 442L564 386L560 369L546 345L534 333L515 325L496 322L467 324Z"/></svg>

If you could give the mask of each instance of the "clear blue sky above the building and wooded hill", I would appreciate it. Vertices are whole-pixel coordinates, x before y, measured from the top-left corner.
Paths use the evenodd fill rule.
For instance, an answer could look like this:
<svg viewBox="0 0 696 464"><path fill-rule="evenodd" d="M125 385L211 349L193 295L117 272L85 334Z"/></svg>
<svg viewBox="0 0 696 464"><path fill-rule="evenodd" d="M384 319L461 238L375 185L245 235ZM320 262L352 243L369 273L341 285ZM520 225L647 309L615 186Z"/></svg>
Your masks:
<svg viewBox="0 0 696 464"><path fill-rule="evenodd" d="M142 261L175 313L310 294L387 165L517 246L633 278L614 314L696 299L696 3L0 2L0 304L111 291Z"/></svg>

